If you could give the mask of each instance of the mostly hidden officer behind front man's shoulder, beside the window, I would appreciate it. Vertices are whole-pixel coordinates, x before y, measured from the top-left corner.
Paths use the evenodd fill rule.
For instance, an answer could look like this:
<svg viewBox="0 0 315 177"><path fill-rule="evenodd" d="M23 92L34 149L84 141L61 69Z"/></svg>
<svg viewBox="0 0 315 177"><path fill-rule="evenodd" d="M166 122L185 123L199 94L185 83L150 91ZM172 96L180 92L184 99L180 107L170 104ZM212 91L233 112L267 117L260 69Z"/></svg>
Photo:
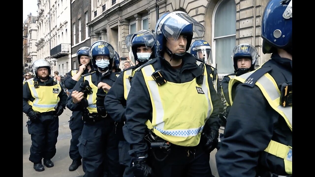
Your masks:
<svg viewBox="0 0 315 177"><path fill-rule="evenodd" d="M210 77L212 78L218 97L221 98L221 86L219 82L218 72L215 67L210 65L213 63L212 50L210 44L205 40L195 40L191 45L190 54L197 58L198 65L200 65L200 63L202 63L204 60L204 63L210 66L211 69ZM221 102L219 112L221 113L223 111L224 111L223 103Z"/></svg>

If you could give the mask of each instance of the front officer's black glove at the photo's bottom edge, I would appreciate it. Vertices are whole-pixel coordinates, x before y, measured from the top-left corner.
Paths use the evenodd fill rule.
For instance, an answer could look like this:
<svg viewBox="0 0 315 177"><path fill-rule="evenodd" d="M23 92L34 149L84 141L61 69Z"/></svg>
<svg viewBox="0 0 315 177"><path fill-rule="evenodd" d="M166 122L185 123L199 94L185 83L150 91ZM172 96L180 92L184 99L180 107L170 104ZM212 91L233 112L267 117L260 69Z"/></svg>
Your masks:
<svg viewBox="0 0 315 177"><path fill-rule="evenodd" d="M151 174L152 168L146 163L146 158L136 158L134 159L134 175L135 177L147 177Z"/></svg>

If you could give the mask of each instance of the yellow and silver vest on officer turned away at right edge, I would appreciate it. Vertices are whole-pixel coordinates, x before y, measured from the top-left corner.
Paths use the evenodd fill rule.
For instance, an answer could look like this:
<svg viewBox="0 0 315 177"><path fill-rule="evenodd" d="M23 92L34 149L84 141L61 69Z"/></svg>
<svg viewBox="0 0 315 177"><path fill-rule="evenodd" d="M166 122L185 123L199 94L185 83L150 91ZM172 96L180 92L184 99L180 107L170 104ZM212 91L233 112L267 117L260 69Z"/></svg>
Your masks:
<svg viewBox="0 0 315 177"><path fill-rule="evenodd" d="M230 80L229 97L230 97L231 104L233 104L232 95L231 95L233 84L238 81L244 83L247 80L247 78L255 71L245 73L241 76L234 77ZM261 92L265 96L269 105L272 107L272 109L277 111L284 118L288 127L292 131L292 106L283 107L280 105L280 90L277 86L276 81L273 79L273 77L269 73L266 73L261 78L258 79L255 85L257 85L260 88ZM265 149L265 151L277 157L283 158L286 173L292 174L292 147L291 146L287 146L287 145L271 140L269 145Z"/></svg>

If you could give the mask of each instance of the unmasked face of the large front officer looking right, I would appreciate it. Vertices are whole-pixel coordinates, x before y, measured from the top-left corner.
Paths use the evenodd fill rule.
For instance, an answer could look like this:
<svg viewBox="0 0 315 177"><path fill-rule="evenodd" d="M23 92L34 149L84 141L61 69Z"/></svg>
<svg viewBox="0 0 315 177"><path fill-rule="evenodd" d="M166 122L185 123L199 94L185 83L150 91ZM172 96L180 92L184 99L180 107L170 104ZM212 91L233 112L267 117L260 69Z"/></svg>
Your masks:
<svg viewBox="0 0 315 177"><path fill-rule="evenodd" d="M173 54L182 54L186 52L186 45L187 45L187 37L180 35L177 40L173 38L167 38L166 40L166 47Z"/></svg>

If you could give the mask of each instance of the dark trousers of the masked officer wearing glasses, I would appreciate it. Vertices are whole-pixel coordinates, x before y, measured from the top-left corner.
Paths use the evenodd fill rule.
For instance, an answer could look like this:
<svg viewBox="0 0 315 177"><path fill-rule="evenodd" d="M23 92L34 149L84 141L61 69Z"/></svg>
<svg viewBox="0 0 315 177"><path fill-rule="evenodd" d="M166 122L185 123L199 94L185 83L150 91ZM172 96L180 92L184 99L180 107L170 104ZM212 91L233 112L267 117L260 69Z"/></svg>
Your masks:
<svg viewBox="0 0 315 177"><path fill-rule="evenodd" d="M118 144L115 143L117 140L114 134L114 123L110 118L95 123L84 123L78 144L85 167L84 177L103 177L106 156L109 171L107 176L120 176Z"/></svg>

